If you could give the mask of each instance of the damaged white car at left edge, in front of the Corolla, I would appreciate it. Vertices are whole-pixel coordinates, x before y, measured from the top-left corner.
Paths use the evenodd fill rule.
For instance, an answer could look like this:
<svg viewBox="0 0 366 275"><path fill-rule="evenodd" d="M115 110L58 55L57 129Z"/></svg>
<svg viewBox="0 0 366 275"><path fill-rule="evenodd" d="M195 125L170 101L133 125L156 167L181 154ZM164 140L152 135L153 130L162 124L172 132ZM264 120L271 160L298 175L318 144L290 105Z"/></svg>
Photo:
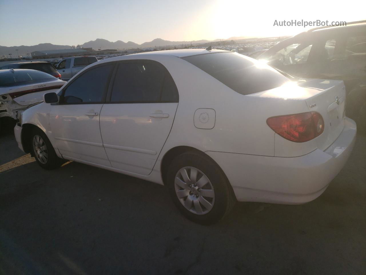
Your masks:
<svg viewBox="0 0 366 275"><path fill-rule="evenodd" d="M17 119L18 111L43 101L43 94L56 92L66 82L37 70L0 70L0 118Z"/></svg>

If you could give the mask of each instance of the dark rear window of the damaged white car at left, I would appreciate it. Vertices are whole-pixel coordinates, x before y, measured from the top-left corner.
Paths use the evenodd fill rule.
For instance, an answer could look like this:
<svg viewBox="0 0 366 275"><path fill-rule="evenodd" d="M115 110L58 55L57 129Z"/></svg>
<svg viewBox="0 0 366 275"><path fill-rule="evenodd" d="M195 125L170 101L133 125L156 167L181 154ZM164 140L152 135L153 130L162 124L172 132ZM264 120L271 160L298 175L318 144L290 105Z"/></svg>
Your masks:
<svg viewBox="0 0 366 275"><path fill-rule="evenodd" d="M0 73L0 87L13 87L54 81L55 77L36 70L19 70Z"/></svg>

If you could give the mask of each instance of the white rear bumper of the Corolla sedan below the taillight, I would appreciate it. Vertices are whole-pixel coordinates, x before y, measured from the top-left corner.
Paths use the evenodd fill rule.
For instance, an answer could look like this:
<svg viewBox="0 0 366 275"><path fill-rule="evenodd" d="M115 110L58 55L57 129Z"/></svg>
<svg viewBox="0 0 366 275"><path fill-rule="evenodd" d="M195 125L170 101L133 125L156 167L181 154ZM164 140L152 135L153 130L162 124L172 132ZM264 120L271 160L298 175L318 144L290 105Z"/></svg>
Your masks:
<svg viewBox="0 0 366 275"><path fill-rule="evenodd" d="M356 141L350 118L325 151L300 157L206 152L223 169L238 201L300 204L319 197L346 164Z"/></svg>

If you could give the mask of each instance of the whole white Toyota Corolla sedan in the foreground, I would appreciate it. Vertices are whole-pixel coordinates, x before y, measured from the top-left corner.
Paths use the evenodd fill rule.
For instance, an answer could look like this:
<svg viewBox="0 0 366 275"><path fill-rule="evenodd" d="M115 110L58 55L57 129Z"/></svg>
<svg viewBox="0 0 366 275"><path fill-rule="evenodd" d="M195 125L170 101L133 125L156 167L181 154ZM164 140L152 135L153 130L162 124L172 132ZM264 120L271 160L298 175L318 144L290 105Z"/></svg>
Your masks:
<svg viewBox="0 0 366 275"><path fill-rule="evenodd" d="M299 204L351 154L343 81L291 79L234 52L146 52L89 65L22 113L19 147L167 186L197 223L237 201Z"/></svg>

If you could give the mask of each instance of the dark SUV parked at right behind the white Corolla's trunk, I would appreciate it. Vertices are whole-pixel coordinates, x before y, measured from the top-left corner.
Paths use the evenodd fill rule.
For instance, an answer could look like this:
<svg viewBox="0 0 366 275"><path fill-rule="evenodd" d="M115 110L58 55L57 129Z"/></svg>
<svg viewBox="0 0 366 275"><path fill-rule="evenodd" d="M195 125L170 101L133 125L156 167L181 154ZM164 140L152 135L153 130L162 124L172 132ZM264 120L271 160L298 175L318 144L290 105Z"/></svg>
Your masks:
<svg viewBox="0 0 366 275"><path fill-rule="evenodd" d="M347 117L366 131L366 21L311 29L281 41L258 59L302 78L343 80Z"/></svg>

